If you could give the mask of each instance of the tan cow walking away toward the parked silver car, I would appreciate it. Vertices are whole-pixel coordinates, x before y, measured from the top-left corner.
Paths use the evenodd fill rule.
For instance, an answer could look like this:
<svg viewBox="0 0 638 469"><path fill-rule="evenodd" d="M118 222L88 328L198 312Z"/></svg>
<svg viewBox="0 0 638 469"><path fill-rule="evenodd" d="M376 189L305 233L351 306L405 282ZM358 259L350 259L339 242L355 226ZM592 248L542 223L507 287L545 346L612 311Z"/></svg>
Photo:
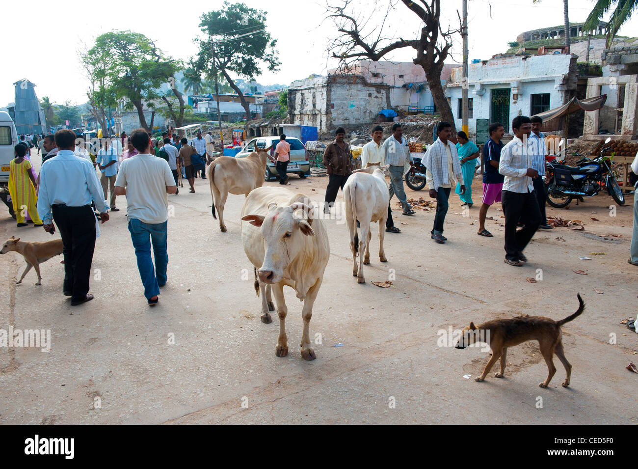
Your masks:
<svg viewBox="0 0 638 469"><path fill-rule="evenodd" d="M266 149L249 154L246 158L219 156L208 167L208 178L211 184L212 216L217 218L219 213L219 229L226 231L224 223L224 205L228 194L248 197L251 190L261 187L266 172L267 160L274 161Z"/></svg>

